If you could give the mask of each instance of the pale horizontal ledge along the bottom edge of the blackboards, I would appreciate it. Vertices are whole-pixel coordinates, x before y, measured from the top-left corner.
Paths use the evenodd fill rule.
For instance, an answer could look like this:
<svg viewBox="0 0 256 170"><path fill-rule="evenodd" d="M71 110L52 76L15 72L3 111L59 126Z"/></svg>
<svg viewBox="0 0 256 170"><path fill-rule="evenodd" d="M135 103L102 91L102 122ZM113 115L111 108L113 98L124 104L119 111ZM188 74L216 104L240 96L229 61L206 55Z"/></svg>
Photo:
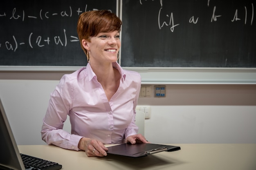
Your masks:
<svg viewBox="0 0 256 170"><path fill-rule="evenodd" d="M72 72L79 66L0 66L0 74L6 71ZM141 75L141 84L256 84L256 68L167 68L123 67Z"/></svg>

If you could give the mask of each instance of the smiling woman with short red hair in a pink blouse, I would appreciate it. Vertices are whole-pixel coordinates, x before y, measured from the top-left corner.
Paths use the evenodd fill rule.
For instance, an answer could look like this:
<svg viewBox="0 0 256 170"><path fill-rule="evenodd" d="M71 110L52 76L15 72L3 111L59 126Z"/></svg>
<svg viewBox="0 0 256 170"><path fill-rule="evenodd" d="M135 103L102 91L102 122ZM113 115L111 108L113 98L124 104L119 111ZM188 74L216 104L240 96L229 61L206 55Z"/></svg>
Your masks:
<svg viewBox="0 0 256 170"><path fill-rule="evenodd" d="M108 150L103 144L148 143L135 125L141 77L116 62L121 24L106 10L79 16L77 33L88 64L64 75L51 93L41 131L47 144L102 157ZM62 130L67 115L71 134Z"/></svg>

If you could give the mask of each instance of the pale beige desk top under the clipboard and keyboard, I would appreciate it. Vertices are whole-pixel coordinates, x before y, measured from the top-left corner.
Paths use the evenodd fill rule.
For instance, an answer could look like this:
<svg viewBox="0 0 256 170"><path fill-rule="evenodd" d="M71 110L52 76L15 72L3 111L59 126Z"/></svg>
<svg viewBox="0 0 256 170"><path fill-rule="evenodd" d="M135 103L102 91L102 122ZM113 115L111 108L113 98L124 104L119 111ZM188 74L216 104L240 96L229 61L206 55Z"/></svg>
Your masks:
<svg viewBox="0 0 256 170"><path fill-rule="evenodd" d="M18 148L20 153L57 162L63 170L256 170L256 144L170 145L180 146L181 150L141 158L87 157L83 151L48 145Z"/></svg>

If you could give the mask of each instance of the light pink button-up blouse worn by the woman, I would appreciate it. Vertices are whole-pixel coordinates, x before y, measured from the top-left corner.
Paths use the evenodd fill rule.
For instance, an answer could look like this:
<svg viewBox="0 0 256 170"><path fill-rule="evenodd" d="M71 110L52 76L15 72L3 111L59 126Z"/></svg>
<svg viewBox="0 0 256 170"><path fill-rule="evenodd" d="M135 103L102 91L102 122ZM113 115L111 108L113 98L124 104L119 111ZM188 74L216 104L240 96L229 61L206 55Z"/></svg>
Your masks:
<svg viewBox="0 0 256 170"><path fill-rule="evenodd" d="M79 150L82 137L97 139L103 144L121 144L128 136L137 134L135 108L141 77L137 72L123 70L117 62L112 65L119 70L121 79L110 101L90 64L63 75L51 93L43 119L41 134L47 144ZM67 115L71 134L62 130Z"/></svg>

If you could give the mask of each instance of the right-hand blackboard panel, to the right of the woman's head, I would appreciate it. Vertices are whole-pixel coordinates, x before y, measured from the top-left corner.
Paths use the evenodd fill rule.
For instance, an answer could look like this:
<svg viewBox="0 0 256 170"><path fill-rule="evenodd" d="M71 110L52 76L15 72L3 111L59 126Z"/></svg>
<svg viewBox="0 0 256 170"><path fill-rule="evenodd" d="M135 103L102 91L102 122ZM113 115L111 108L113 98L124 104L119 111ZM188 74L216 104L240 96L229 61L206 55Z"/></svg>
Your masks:
<svg viewBox="0 0 256 170"><path fill-rule="evenodd" d="M121 65L256 67L254 0L123 0Z"/></svg>

